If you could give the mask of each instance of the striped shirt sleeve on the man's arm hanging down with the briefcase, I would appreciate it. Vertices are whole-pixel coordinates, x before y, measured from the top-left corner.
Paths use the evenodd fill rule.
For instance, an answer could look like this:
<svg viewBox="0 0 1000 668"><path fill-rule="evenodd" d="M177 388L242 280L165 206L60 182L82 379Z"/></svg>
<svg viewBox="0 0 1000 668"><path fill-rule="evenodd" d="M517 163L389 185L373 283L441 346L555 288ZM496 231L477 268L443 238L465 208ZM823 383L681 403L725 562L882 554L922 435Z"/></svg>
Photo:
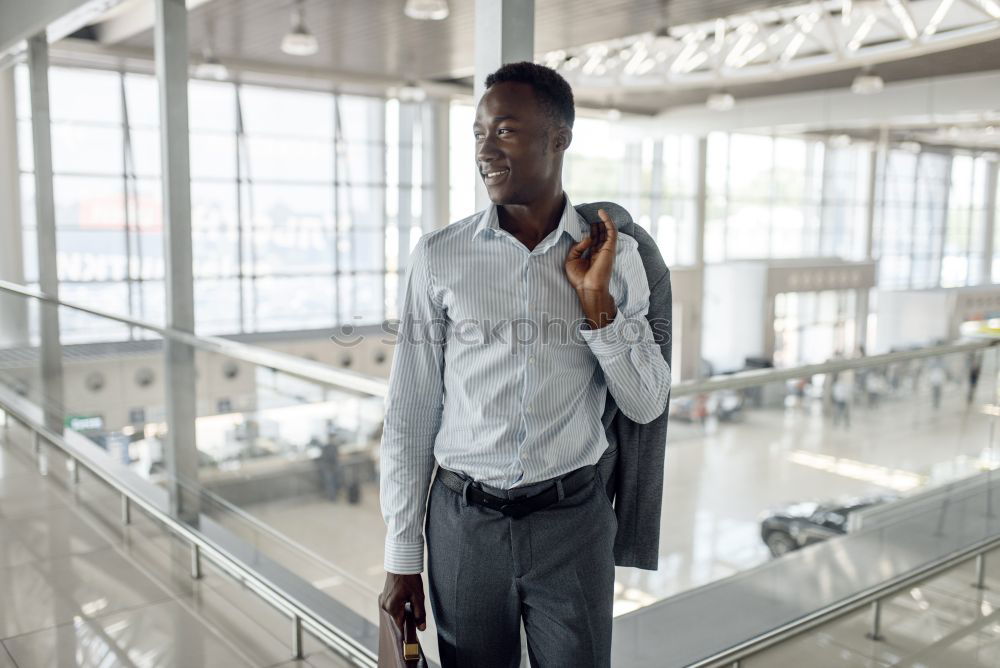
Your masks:
<svg viewBox="0 0 1000 668"><path fill-rule="evenodd" d="M425 235L410 254L403 282L382 432L383 565L390 573L420 573L424 566L423 520L444 397L444 318L431 289Z"/></svg>

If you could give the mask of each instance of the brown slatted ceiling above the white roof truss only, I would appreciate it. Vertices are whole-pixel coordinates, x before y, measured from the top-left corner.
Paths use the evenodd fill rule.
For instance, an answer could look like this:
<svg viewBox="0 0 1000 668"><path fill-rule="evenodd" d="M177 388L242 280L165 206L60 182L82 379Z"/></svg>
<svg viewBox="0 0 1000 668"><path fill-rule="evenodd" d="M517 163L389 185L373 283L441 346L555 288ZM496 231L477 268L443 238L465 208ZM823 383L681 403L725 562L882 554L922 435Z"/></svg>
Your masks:
<svg viewBox="0 0 1000 668"><path fill-rule="evenodd" d="M149 0L131 0L141 6ZM189 6L195 3L190 2ZM671 25L788 4L775 0L536 0L537 52L634 35ZM403 14L404 0L304 0L306 23L319 40L319 53L296 57L281 52L288 30L290 0L211 0L190 9L192 54L211 43L228 59L327 67L405 79L454 79L472 74L473 0L451 0L444 21L415 21ZM121 15L121 11L118 15ZM152 49L147 25L117 45ZM99 33L98 33L99 34Z"/></svg>

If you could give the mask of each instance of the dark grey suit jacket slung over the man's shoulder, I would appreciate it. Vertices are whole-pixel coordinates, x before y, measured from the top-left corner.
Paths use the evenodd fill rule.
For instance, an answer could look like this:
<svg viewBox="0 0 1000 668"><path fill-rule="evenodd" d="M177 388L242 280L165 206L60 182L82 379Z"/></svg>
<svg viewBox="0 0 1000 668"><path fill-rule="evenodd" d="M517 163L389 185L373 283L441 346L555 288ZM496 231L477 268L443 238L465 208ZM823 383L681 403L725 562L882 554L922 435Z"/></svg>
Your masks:
<svg viewBox="0 0 1000 668"><path fill-rule="evenodd" d="M656 242L646 230L632 221L623 207L612 202L592 202L576 207L588 223L600 222L598 209L604 209L618 231L639 243L649 282L649 311L646 319L663 359L670 363L673 307L670 293L670 270L663 262ZM667 414L670 395L663 415L647 424L639 424L618 410L608 393L601 422L609 447L618 448L615 475L615 565L656 570L659 562L660 510L663 505L663 465L667 445Z"/></svg>

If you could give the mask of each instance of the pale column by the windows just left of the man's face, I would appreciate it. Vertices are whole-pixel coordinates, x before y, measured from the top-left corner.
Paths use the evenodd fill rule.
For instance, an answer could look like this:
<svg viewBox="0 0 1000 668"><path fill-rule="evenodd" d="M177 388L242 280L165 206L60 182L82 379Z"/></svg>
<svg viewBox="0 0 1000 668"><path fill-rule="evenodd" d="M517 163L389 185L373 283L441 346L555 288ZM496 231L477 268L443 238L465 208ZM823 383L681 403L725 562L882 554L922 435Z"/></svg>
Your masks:
<svg viewBox="0 0 1000 668"><path fill-rule="evenodd" d="M424 136L424 179L431 192L425 193L422 227L429 232L451 222L451 102L429 100L424 109L429 118L423 127L430 133ZM472 169L471 155L468 164Z"/></svg>

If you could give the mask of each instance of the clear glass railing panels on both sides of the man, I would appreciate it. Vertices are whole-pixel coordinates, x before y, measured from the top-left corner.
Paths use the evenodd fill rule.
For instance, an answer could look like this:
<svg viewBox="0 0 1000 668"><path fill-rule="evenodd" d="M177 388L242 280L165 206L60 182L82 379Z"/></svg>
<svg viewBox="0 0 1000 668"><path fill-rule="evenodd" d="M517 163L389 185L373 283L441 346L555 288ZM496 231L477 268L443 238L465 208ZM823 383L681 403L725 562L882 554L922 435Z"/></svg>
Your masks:
<svg viewBox="0 0 1000 668"><path fill-rule="evenodd" d="M37 322L37 300L9 291L0 300L17 300ZM112 340L64 341L58 401L38 374L38 341L0 350L0 383L50 406L109 458L174 482L162 446L162 332L60 311L73 312L74 332ZM385 379L262 344L195 343L199 473L179 484L197 490L204 514L377 623ZM836 550L852 516L992 470L998 363L978 340L676 384L659 568L618 569L616 616L627 623L647 607L686 605L737 577L767 590L786 564ZM756 579L762 569L778 575ZM814 609L843 593L824 591ZM434 659L436 643L426 645Z"/></svg>

